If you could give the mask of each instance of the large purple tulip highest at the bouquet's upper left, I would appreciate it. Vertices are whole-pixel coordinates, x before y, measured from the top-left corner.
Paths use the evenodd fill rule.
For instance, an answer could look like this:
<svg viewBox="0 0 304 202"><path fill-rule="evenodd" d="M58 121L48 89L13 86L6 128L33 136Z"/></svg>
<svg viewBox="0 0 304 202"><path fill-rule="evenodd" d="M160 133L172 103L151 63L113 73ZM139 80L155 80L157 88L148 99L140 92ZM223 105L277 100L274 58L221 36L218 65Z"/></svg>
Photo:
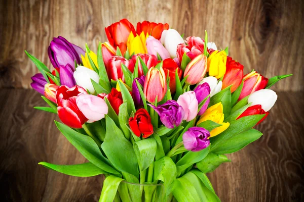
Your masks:
<svg viewBox="0 0 304 202"><path fill-rule="evenodd" d="M54 67L69 64L74 69L74 61L76 60L77 64L81 64L81 55L85 55L85 51L81 47L68 42L62 36L58 36L51 41L48 47L48 55Z"/></svg>

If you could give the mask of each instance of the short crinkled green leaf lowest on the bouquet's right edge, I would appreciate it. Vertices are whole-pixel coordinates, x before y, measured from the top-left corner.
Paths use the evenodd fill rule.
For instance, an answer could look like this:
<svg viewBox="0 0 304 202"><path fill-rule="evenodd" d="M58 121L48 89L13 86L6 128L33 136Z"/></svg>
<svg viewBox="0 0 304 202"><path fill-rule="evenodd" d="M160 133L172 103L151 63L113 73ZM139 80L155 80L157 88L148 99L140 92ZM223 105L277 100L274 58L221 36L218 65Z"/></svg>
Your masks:
<svg viewBox="0 0 304 202"><path fill-rule="evenodd" d="M215 155L209 153L205 159L198 162L196 165L203 173L213 172L222 163L231 162L225 155Z"/></svg>

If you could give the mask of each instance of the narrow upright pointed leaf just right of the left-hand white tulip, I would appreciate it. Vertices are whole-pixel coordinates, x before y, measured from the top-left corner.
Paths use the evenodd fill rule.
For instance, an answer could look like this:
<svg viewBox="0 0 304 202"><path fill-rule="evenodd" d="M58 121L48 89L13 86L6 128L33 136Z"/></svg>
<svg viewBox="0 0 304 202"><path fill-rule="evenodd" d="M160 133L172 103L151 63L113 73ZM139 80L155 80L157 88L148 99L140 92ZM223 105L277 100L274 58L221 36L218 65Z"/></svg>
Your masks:
<svg viewBox="0 0 304 202"><path fill-rule="evenodd" d="M103 56L102 56L102 45L101 42L99 41L98 44L98 49L97 49L97 64L99 68L99 84L106 89L108 92L111 91L111 84L109 81L109 78L107 76L106 68L104 65L103 61Z"/></svg>

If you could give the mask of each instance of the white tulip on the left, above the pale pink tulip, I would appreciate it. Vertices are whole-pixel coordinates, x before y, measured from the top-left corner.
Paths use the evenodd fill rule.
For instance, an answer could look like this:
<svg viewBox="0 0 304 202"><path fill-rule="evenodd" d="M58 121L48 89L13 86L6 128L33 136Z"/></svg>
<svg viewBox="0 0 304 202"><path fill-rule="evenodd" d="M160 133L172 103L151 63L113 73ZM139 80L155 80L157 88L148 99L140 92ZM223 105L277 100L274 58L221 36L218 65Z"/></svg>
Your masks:
<svg viewBox="0 0 304 202"><path fill-rule="evenodd" d="M95 71L83 66L78 66L76 68L76 71L74 71L73 76L77 85L80 85L85 89L88 89L92 94L95 93L95 89L91 82L92 79L96 81L96 83L99 83L99 76Z"/></svg>

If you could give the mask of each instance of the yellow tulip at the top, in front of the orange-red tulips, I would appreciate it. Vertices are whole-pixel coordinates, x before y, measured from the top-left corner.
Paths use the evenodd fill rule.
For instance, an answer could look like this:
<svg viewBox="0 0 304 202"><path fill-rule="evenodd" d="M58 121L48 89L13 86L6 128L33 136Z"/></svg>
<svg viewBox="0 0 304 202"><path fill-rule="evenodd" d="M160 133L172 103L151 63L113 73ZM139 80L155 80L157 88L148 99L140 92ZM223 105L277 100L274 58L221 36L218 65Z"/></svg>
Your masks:
<svg viewBox="0 0 304 202"><path fill-rule="evenodd" d="M146 54L147 48L145 45L145 41L148 37L148 33L144 35L144 32L141 32L141 34L138 36L134 36L133 32L130 33L127 41L127 47L129 50L130 55L134 54Z"/></svg>

